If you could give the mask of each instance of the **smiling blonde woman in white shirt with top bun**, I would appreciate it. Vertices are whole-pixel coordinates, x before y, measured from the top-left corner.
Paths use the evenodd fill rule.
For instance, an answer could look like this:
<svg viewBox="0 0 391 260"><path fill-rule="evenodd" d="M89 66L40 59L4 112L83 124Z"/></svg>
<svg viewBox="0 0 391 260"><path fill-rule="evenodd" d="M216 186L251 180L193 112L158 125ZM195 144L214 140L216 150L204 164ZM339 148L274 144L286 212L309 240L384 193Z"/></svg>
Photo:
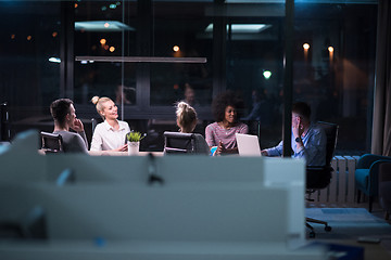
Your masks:
<svg viewBox="0 0 391 260"><path fill-rule="evenodd" d="M130 132L129 125L118 120L117 106L109 98L93 96L91 102L97 106L103 122L98 123L91 141L91 151L127 151L126 133Z"/></svg>

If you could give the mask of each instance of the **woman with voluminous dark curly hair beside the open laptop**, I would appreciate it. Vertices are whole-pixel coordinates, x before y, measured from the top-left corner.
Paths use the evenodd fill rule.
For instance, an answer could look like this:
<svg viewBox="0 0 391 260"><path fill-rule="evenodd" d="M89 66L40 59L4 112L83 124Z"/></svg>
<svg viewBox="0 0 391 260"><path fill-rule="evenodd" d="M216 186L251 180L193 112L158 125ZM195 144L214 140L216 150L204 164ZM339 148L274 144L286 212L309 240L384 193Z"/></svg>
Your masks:
<svg viewBox="0 0 391 260"><path fill-rule="evenodd" d="M238 120L242 108L242 100L231 91L213 100L212 110L216 121L206 127L205 136L211 148L217 146L215 155L238 153L235 134L249 132L249 127Z"/></svg>

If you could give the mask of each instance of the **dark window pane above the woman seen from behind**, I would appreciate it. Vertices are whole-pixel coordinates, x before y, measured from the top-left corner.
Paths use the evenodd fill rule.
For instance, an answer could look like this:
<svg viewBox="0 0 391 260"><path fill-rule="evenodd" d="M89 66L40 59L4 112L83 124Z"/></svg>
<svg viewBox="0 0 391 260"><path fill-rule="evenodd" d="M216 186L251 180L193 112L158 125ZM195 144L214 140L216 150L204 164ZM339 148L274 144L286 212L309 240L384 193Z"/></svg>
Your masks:
<svg viewBox="0 0 391 260"><path fill-rule="evenodd" d="M171 57L206 57L205 64L151 64L151 106L172 106L187 100L197 106L212 101L212 37L205 28L206 2L153 2L153 54Z"/></svg>

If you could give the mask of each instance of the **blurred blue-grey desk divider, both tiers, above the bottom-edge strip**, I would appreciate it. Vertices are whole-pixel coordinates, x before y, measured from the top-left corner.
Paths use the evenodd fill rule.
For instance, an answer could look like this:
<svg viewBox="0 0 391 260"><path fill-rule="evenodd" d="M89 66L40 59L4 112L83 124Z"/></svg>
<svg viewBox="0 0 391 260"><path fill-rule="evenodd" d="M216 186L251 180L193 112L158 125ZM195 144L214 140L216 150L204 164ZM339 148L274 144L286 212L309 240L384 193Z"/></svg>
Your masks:
<svg viewBox="0 0 391 260"><path fill-rule="evenodd" d="M15 160L18 150L0 155L0 160ZM50 239L285 244L305 237L302 160L81 154L31 158L16 173L4 172L38 171L35 178L1 183L0 200L9 208L0 211L0 219L40 205L48 213ZM65 169L75 183L56 186Z"/></svg>

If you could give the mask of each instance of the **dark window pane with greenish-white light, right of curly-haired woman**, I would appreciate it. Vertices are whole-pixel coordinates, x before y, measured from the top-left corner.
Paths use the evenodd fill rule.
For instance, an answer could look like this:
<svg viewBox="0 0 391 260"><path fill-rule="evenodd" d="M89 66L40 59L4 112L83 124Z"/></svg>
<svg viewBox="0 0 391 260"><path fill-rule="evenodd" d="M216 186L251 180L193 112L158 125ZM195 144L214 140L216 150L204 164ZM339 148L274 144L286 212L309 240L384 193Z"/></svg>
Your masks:
<svg viewBox="0 0 391 260"><path fill-rule="evenodd" d="M262 133L261 146L268 147L281 139L283 36L279 18L256 20L227 24L227 88L243 99L241 119L251 134Z"/></svg>

